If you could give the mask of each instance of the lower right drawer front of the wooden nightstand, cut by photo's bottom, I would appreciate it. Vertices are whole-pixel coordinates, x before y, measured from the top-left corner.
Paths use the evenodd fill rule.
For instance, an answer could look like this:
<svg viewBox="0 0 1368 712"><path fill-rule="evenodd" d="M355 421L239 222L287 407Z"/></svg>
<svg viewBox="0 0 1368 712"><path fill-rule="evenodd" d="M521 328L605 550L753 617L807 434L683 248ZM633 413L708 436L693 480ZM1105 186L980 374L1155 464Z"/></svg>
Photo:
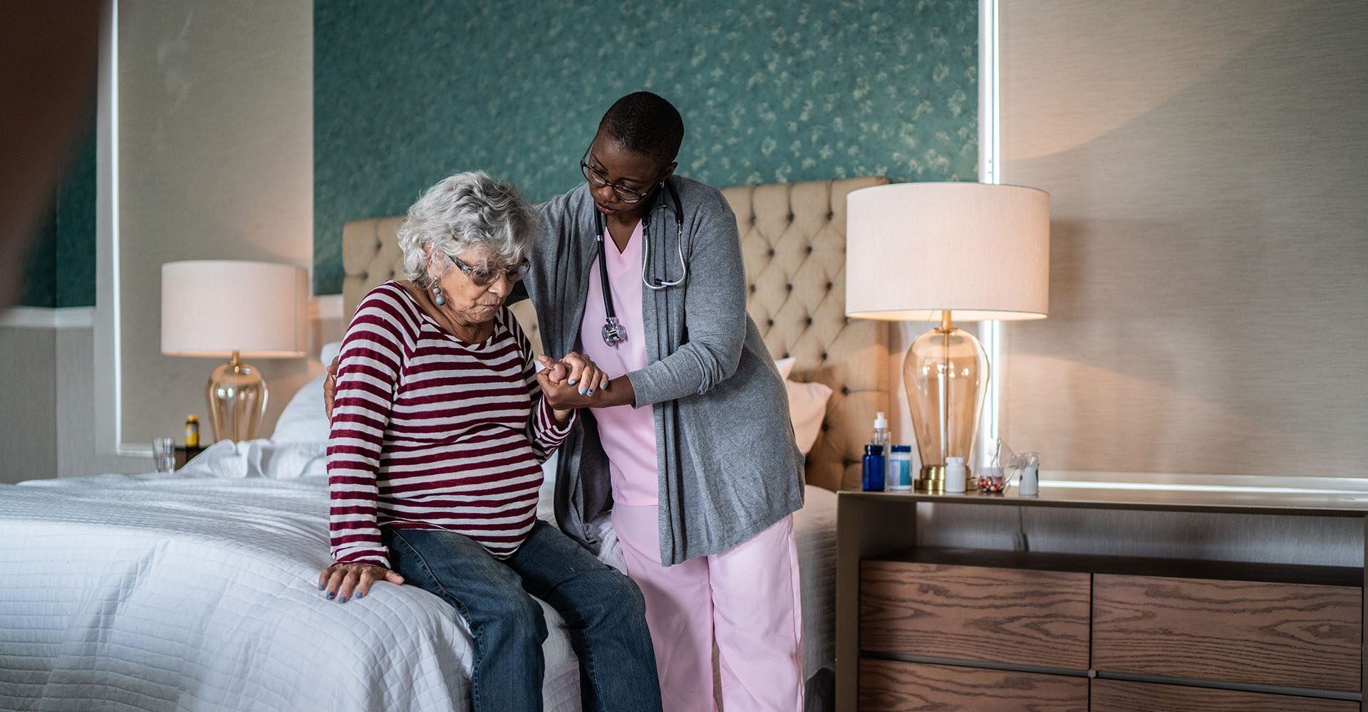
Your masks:
<svg viewBox="0 0 1368 712"><path fill-rule="evenodd" d="M1358 702L1347 700L1115 679L1094 679L1092 697L1092 712L1358 712Z"/></svg>

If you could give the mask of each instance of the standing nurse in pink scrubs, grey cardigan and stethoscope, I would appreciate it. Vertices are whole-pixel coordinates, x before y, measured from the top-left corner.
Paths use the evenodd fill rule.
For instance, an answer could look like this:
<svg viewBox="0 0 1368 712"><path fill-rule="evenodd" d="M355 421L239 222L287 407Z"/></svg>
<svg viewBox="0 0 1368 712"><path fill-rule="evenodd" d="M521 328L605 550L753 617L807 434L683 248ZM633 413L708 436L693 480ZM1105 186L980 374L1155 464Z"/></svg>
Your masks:
<svg viewBox="0 0 1368 712"><path fill-rule="evenodd" d="M524 280L549 354L568 354L581 417L561 446L555 510L591 549L611 510L646 597L669 712L800 711L792 512L803 456L782 380L746 313L736 216L674 175L679 111L637 92L599 122L586 183L538 208ZM516 298L516 295L514 295ZM587 355L605 376L577 383Z"/></svg>

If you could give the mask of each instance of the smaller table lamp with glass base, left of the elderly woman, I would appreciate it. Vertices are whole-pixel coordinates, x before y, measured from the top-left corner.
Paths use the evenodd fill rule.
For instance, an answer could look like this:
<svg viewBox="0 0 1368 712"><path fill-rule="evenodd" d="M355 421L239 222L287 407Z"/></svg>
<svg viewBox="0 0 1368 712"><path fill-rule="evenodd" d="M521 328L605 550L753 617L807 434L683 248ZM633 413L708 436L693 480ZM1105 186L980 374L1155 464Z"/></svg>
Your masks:
<svg viewBox="0 0 1368 712"><path fill-rule="evenodd" d="M215 441L256 437L268 392L242 357L305 355L308 297L308 273L300 266L233 260L161 265L161 353L228 358L204 388Z"/></svg>

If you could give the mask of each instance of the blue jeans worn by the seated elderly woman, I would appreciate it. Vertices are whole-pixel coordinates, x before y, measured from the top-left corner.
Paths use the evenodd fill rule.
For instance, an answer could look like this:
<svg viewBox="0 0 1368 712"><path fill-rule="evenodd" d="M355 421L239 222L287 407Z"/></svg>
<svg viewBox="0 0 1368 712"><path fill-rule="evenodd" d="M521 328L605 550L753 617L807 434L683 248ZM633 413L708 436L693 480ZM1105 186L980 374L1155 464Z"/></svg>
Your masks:
<svg viewBox="0 0 1368 712"><path fill-rule="evenodd" d="M502 560L445 529L386 528L382 540L406 585L440 596L469 623L475 712L542 709L546 620L532 596L565 619L580 660L586 712L661 709L640 589L560 529L536 522L517 552Z"/></svg>

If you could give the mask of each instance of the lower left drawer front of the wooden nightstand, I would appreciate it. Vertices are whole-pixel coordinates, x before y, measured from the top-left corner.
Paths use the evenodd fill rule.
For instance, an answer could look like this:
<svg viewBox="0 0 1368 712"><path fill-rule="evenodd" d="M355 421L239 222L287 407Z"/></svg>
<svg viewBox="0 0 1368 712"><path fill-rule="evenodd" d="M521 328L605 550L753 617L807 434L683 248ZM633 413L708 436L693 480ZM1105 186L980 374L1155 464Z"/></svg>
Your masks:
<svg viewBox="0 0 1368 712"><path fill-rule="evenodd" d="M1086 712L1088 678L859 660L860 712Z"/></svg>

